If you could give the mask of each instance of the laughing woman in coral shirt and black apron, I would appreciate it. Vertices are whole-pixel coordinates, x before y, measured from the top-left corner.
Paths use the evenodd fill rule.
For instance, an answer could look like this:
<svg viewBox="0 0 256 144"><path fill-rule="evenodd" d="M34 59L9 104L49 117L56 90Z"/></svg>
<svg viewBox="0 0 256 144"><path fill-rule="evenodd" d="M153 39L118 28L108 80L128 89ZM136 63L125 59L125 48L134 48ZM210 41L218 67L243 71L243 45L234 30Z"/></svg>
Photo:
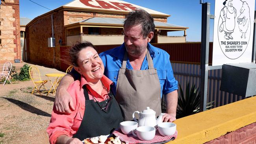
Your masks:
<svg viewBox="0 0 256 144"><path fill-rule="evenodd" d="M70 62L81 79L68 89L76 108L71 114L52 111L47 127L51 144L82 144L87 137L108 135L122 122L122 114L113 94L113 83L104 76L104 65L90 42L78 43L69 51Z"/></svg>

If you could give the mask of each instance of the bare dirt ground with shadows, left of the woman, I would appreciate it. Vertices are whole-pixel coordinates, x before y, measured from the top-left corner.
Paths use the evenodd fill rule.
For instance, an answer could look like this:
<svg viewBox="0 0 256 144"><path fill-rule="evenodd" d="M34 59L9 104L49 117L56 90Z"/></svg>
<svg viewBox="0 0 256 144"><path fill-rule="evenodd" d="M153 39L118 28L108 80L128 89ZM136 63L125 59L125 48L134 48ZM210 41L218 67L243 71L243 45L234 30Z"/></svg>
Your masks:
<svg viewBox="0 0 256 144"><path fill-rule="evenodd" d="M25 63L14 63L20 68ZM33 65L28 63L28 65ZM54 68L39 66L41 79L46 73L64 73ZM3 65L0 64L0 70ZM65 74L65 73L64 73ZM47 88L51 83L46 83ZM31 94L32 81L0 84L0 144L48 144L46 127L50 122L55 93L46 96Z"/></svg>

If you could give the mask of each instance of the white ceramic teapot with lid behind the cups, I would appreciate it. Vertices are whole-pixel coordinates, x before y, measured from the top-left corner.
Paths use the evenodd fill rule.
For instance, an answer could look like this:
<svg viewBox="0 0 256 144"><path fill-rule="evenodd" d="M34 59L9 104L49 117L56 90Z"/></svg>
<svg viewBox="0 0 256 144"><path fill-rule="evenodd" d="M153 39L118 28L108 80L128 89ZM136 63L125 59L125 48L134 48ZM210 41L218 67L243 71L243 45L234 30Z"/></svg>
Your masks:
<svg viewBox="0 0 256 144"><path fill-rule="evenodd" d="M139 121L135 118L135 113L139 114ZM163 117L164 113L161 113L158 116L158 119L156 118L156 112L152 109L150 109L149 107L147 107L147 109L144 109L143 111L139 112L139 111L135 111L132 114L132 118L134 119L135 122L138 123L138 126L152 126L155 127L158 124L160 124L162 122L162 117Z"/></svg>

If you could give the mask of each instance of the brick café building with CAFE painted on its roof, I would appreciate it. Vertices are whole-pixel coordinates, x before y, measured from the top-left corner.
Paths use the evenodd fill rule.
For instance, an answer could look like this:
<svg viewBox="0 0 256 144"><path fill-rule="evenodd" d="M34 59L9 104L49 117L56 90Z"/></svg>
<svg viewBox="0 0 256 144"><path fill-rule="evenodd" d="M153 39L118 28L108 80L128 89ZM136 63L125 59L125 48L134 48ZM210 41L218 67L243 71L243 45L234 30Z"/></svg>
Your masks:
<svg viewBox="0 0 256 144"><path fill-rule="evenodd" d="M95 45L122 44L123 20L129 11L145 9L155 20L152 43L186 42L186 27L168 24L170 15L121 0L73 0L34 18L26 25L28 59L35 63L59 67L60 46L76 41ZM180 37L167 36L168 31L184 31ZM54 37L53 47L48 38Z"/></svg>

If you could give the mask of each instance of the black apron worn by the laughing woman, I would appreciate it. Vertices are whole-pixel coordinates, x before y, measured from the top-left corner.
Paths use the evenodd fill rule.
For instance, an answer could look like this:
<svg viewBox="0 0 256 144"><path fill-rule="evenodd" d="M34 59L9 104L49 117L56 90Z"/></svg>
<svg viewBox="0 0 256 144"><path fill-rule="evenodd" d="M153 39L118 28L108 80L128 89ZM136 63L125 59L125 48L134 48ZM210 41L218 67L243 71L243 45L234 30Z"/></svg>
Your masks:
<svg viewBox="0 0 256 144"><path fill-rule="evenodd" d="M109 97L112 100L109 101L106 112L101 110L97 102L89 100L85 86L83 87L83 94L85 96L85 112L81 125L73 138L78 138L82 141L85 138L109 135L119 127L120 122L123 121L122 113L111 91ZM99 102L99 104L102 105L106 101Z"/></svg>

